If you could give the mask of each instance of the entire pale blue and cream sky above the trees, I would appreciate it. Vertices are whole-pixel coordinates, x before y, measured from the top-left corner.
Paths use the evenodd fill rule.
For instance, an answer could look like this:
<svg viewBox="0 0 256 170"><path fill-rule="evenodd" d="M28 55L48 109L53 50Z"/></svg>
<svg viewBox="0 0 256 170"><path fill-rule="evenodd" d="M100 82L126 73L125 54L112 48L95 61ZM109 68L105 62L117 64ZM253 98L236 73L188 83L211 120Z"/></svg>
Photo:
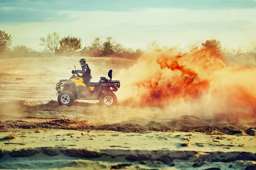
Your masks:
<svg viewBox="0 0 256 170"><path fill-rule="evenodd" d="M211 39L237 48L256 40L256 0L0 0L0 30L13 46L37 51L53 32L81 37L83 46L113 37L134 49Z"/></svg>

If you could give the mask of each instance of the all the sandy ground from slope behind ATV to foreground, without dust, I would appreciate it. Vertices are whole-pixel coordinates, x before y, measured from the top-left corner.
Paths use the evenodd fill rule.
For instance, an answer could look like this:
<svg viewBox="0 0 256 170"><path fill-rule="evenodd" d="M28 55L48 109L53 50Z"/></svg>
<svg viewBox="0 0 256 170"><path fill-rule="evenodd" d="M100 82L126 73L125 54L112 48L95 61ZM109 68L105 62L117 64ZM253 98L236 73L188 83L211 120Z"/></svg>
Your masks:
<svg viewBox="0 0 256 170"><path fill-rule="evenodd" d="M122 101L58 105L55 85L71 77L80 58L0 59L0 168L255 169L256 118L240 112L180 112ZM87 60L92 82L109 69L123 80L119 73L136 63ZM16 139L5 139L9 135Z"/></svg>

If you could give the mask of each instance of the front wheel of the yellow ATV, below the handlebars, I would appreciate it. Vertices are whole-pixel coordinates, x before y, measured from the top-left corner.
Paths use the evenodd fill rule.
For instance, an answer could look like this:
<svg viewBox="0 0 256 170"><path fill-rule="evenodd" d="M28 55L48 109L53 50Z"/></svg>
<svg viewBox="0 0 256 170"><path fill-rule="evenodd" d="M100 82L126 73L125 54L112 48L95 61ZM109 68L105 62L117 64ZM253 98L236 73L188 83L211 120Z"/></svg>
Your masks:
<svg viewBox="0 0 256 170"><path fill-rule="evenodd" d="M58 95L59 105L72 106L75 102L75 96L71 91L64 90Z"/></svg>

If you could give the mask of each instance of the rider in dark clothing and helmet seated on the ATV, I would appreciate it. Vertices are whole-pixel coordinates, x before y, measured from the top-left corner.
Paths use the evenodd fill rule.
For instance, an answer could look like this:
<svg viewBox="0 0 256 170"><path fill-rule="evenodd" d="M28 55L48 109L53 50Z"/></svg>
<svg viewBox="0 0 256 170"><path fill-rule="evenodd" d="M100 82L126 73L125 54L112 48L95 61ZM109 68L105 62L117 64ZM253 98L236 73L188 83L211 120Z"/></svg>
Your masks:
<svg viewBox="0 0 256 170"><path fill-rule="evenodd" d="M93 78L91 73L90 73L91 70L89 68L89 65L86 62L86 59L82 58L82 59L79 60L79 62L80 62L80 65L82 67L82 70L76 70L75 72L83 74L82 77L85 80L86 88L89 89L90 79Z"/></svg>

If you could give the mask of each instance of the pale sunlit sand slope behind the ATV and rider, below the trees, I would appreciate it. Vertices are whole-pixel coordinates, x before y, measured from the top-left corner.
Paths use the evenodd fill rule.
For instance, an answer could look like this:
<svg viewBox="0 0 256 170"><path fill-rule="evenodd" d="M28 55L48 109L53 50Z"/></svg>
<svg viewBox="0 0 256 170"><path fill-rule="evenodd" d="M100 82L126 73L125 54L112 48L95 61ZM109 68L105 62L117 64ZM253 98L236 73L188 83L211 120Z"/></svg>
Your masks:
<svg viewBox="0 0 256 170"><path fill-rule="evenodd" d="M25 57L22 59L0 59L0 102L17 100L56 100L55 86L59 79L69 79L71 71L81 70L81 57ZM92 70L91 82L99 77L108 77L113 69L113 78L121 69L131 67L134 60L118 58L90 58L87 62Z"/></svg>

